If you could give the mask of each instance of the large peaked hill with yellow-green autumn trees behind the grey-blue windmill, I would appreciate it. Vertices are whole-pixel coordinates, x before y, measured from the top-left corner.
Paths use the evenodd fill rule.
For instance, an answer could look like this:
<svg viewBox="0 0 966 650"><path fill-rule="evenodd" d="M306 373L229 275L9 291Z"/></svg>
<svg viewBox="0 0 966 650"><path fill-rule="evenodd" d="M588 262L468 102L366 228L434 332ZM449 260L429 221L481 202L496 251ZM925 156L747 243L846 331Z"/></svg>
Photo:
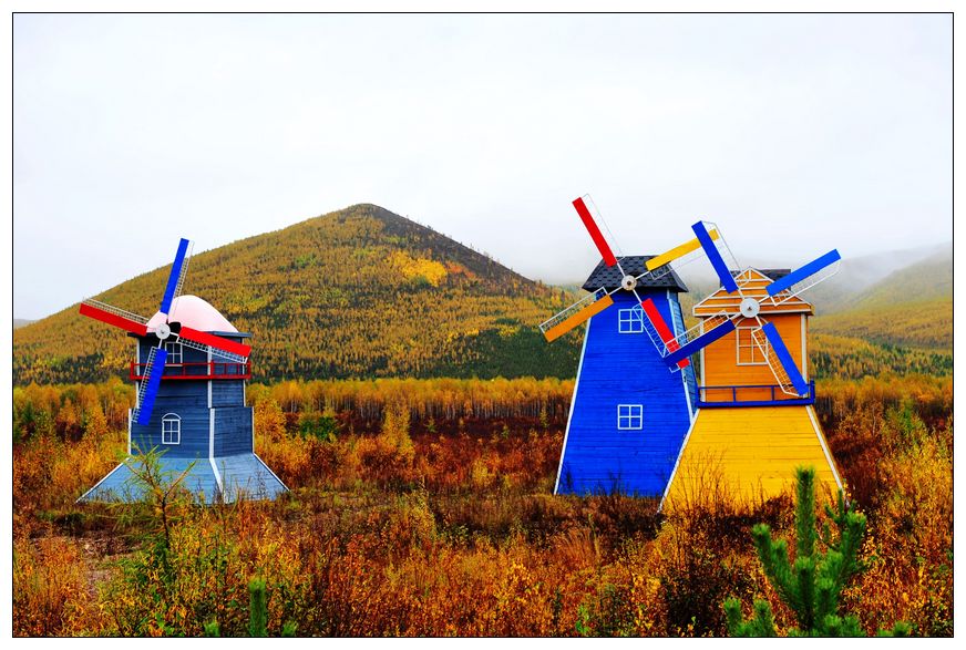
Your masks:
<svg viewBox="0 0 966 650"><path fill-rule="evenodd" d="M94 298L150 317L169 268ZM582 330L547 344L536 328L571 295L374 205L199 254L183 293L254 334L259 380L573 376L577 367ZM13 379L101 381L126 375L132 354L124 332L73 305L16 330Z"/></svg>

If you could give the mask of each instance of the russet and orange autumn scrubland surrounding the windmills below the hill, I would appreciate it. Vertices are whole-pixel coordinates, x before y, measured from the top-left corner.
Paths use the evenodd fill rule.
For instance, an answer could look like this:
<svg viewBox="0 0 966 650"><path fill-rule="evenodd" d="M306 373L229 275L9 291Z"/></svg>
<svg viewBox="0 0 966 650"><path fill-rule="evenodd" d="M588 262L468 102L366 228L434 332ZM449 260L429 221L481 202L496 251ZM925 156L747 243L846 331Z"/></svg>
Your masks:
<svg viewBox="0 0 966 650"><path fill-rule="evenodd" d="M573 381L254 384L256 451L291 488L199 507L172 491L75 505L123 457L133 389L13 391L17 636L723 636L722 602L767 599L751 527L790 535L791 495L658 514L553 496ZM820 381L815 407L869 520L842 610L867 633L953 633L952 378ZM163 487L163 486L162 486ZM821 518L821 517L820 517ZM793 546L791 544L790 546Z"/></svg>

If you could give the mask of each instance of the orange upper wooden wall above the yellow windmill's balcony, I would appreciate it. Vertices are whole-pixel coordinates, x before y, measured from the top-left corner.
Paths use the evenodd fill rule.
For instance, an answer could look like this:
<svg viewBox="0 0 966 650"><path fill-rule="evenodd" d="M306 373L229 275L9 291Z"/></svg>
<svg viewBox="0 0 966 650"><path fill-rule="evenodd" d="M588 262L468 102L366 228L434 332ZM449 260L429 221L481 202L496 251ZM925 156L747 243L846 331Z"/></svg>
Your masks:
<svg viewBox="0 0 966 650"><path fill-rule="evenodd" d="M802 370L802 314L773 314L769 321L774 323L779 334L792 354L799 371ZM741 327L757 327L754 319L741 319L736 323ZM778 383L768 364L738 365L738 331L726 334L705 348L705 384L706 386L733 386L733 385L771 385ZM804 374L804 373L803 373ZM730 401L731 393L728 391L706 391L705 401L721 402ZM769 400L771 393L767 390L741 391L741 399L746 401Z"/></svg>

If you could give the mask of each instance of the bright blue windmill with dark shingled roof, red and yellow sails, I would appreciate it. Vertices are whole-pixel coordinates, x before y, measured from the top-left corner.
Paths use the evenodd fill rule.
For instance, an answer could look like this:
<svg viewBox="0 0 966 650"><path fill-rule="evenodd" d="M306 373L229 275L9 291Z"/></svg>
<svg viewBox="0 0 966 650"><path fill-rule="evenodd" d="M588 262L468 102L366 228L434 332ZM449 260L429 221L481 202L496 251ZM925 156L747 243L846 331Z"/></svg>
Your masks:
<svg viewBox="0 0 966 650"><path fill-rule="evenodd" d="M554 492L660 495L697 399L690 360L671 364L676 374L664 362L685 332L678 295L687 287L669 262L690 264L705 250L691 239L659 256L617 257L589 196L573 205L602 260L584 283L588 295L539 326L554 341L587 323ZM717 231L709 237L723 246ZM655 322L660 350L645 333Z"/></svg>

